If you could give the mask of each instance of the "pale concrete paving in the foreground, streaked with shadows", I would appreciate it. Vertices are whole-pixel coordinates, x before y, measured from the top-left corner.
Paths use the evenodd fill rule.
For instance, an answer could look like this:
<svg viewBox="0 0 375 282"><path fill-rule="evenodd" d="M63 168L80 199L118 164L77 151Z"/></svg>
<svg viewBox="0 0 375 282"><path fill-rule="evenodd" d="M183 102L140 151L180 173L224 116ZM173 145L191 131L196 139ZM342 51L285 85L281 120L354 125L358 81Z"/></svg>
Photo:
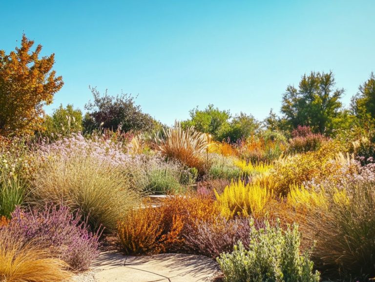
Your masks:
<svg viewBox="0 0 375 282"><path fill-rule="evenodd" d="M98 282L207 282L218 272L217 263L204 256L124 256L112 251L102 253L92 269Z"/></svg>

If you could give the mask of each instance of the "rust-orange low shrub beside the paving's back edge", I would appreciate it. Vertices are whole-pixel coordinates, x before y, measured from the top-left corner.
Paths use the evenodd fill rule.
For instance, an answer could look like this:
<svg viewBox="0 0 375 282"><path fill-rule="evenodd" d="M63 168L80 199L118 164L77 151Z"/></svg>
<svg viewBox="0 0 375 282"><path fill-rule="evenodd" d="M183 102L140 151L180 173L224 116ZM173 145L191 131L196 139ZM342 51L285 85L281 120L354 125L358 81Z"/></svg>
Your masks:
<svg viewBox="0 0 375 282"><path fill-rule="evenodd" d="M184 237L198 222L220 213L212 199L196 195L165 199L159 207L133 209L118 224L118 240L125 254L149 254L184 248Z"/></svg>

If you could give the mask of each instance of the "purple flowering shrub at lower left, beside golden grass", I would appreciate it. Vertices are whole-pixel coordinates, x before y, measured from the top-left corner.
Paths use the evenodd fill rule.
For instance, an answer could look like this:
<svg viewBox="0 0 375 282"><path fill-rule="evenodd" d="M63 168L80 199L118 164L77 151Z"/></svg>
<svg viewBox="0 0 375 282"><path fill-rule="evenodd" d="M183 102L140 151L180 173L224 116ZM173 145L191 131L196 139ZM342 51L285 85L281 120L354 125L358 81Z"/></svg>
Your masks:
<svg viewBox="0 0 375 282"><path fill-rule="evenodd" d="M32 241L53 246L53 253L74 271L88 269L99 255L100 229L95 233L89 232L80 214L73 215L62 205L46 205L41 212L17 207L12 213L12 220L0 227L4 228L25 244Z"/></svg>

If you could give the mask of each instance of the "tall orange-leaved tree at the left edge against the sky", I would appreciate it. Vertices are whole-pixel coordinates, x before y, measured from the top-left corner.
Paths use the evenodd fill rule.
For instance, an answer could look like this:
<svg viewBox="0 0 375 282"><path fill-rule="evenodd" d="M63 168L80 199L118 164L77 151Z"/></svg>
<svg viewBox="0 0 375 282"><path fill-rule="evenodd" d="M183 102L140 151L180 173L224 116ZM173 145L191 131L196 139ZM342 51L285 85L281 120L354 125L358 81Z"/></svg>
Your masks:
<svg viewBox="0 0 375 282"><path fill-rule="evenodd" d="M62 85L52 70L54 54L39 58L42 45L23 34L21 47L0 50L0 135L33 134L40 129L43 105L50 104Z"/></svg>

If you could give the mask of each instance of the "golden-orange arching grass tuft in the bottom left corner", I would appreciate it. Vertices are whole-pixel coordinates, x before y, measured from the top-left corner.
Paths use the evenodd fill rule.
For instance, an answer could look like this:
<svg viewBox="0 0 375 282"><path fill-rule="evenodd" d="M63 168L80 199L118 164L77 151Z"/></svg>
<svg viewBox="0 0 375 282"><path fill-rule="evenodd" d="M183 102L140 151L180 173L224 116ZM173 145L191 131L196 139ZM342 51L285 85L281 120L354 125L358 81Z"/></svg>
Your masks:
<svg viewBox="0 0 375 282"><path fill-rule="evenodd" d="M5 282L60 282L72 275L66 262L52 257L51 249L24 243L7 228L0 229L0 262L0 281Z"/></svg>

